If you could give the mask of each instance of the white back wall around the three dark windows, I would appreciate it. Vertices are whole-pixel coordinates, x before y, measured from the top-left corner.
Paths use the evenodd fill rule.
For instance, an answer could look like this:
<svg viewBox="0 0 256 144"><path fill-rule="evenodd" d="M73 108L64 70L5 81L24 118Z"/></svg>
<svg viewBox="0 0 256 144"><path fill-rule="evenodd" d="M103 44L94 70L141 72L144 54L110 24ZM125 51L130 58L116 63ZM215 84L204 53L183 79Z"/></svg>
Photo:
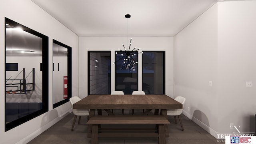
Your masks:
<svg viewBox="0 0 256 144"><path fill-rule="evenodd" d="M141 50L165 50L166 51L166 94L173 98L173 37L172 36L131 36L134 48ZM86 97L88 51L111 50L111 61L114 62L114 51L122 49L122 44L127 47L126 36L82 36L79 37L79 96ZM139 52L141 52L141 50ZM142 56L138 56L138 90L142 90ZM111 91L115 86L115 68L111 66Z"/></svg>

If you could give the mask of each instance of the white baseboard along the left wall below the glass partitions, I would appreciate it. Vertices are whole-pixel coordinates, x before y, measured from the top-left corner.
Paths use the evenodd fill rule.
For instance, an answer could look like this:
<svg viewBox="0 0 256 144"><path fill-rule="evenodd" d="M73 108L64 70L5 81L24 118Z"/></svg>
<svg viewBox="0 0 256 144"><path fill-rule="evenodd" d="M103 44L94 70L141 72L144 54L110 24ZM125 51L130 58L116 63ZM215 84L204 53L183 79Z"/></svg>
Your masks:
<svg viewBox="0 0 256 144"><path fill-rule="evenodd" d="M26 136L25 138L23 138L22 140L20 140L19 142L17 142L16 144L27 144L28 142L30 142L31 140L33 140L34 138L36 138L37 136L39 136L40 134L42 134L44 131L46 131L48 128L50 128L51 126L53 126L54 124L56 124L58 121L60 121L62 118L64 118L66 115L70 114L70 112L72 112L71 110L68 110L67 112L63 113L62 115L58 116L57 118L55 118L54 120L48 122L47 124L45 124L44 126L42 126L41 128L39 128L38 130L36 130L35 132L33 132L32 134Z"/></svg>

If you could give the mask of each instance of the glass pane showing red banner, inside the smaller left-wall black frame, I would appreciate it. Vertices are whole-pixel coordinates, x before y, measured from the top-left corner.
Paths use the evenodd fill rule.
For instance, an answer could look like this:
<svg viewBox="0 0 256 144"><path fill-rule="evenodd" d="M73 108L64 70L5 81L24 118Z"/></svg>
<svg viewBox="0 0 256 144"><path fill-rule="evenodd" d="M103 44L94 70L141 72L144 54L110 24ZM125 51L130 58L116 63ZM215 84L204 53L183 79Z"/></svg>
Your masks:
<svg viewBox="0 0 256 144"><path fill-rule="evenodd" d="M53 43L53 104L68 98L68 48Z"/></svg>

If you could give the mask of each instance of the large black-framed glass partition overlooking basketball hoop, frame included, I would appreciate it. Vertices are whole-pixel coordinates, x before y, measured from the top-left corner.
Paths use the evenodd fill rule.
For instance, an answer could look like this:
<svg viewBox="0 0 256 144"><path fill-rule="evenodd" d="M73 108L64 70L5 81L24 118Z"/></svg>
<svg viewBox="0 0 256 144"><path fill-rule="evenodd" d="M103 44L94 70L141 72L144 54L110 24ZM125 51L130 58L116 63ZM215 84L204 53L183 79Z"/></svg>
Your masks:
<svg viewBox="0 0 256 144"><path fill-rule="evenodd" d="M48 111L48 37L5 18L5 131Z"/></svg>

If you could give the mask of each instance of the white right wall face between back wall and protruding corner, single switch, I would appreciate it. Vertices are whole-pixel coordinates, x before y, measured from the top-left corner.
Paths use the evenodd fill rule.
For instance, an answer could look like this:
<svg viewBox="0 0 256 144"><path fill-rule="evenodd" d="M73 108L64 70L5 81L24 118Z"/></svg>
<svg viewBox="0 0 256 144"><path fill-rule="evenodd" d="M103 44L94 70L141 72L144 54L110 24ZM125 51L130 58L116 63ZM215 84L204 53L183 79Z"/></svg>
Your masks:
<svg viewBox="0 0 256 144"><path fill-rule="evenodd" d="M186 98L183 113L211 133L218 130L217 8L174 36L174 95Z"/></svg>

